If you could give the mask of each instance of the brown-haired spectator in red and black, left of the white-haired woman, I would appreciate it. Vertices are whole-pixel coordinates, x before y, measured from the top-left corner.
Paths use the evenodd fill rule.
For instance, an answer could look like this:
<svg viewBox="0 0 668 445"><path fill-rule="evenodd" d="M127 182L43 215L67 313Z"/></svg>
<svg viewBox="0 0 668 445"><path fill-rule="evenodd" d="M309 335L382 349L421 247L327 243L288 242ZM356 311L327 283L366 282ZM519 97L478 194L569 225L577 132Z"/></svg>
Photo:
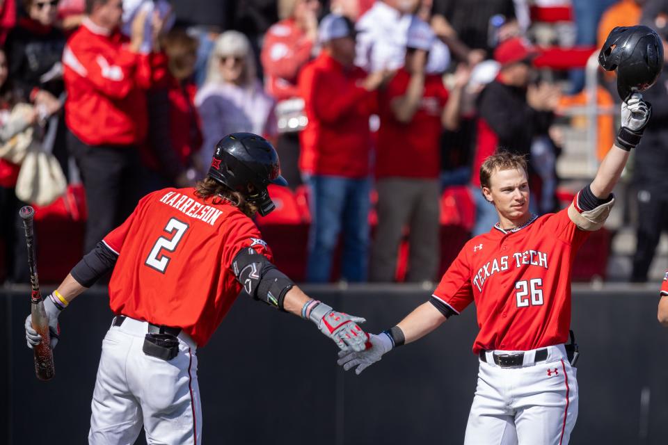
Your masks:
<svg viewBox="0 0 668 445"><path fill-rule="evenodd" d="M197 44L182 29L161 38L169 70L164 85L148 91L148 138L142 153L149 170L147 191L190 186L198 177L193 165L198 162L193 154L202 146L193 81Z"/></svg>

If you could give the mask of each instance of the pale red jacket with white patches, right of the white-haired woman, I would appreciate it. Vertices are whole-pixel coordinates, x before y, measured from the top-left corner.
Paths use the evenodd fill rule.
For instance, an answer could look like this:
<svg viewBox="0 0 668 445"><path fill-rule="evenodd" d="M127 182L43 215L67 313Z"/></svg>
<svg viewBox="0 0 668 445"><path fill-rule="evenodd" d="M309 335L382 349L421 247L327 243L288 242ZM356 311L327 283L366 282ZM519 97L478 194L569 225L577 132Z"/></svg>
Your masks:
<svg viewBox="0 0 668 445"><path fill-rule="evenodd" d="M281 20L267 30L260 60L271 97L280 101L299 96L297 76L310 60L312 49L313 42L294 19Z"/></svg>

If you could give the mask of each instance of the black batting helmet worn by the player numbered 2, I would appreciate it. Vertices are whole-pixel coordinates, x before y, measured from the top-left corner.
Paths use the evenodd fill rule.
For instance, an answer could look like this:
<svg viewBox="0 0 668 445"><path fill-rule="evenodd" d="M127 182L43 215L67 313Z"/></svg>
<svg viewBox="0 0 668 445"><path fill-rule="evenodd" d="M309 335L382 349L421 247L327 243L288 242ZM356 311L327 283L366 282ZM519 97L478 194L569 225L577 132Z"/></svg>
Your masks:
<svg viewBox="0 0 668 445"><path fill-rule="evenodd" d="M244 194L262 216L276 208L267 186L287 186L280 175L276 149L267 139L253 133L231 133L222 138L216 145L209 177ZM252 193L249 186L253 186Z"/></svg>

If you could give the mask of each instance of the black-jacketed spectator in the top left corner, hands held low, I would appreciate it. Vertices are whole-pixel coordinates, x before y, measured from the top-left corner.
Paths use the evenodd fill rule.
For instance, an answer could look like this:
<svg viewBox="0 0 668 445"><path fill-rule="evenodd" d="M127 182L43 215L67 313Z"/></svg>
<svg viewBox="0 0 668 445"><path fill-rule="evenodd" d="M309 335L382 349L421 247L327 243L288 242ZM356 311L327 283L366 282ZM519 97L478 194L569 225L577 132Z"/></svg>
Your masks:
<svg viewBox="0 0 668 445"><path fill-rule="evenodd" d="M18 20L6 42L9 76L17 100L34 102L42 124L48 119L45 149L54 153L67 172L67 129L60 113L65 102L61 63L65 35L56 27L57 2L24 0L23 5L28 15Z"/></svg>

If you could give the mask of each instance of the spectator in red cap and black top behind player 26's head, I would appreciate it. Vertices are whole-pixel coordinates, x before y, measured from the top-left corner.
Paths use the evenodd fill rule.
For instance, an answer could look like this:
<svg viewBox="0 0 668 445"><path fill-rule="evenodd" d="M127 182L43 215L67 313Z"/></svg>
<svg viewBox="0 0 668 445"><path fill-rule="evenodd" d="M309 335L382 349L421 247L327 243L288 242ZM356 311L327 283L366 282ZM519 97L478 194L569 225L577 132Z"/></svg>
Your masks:
<svg viewBox="0 0 668 445"><path fill-rule="evenodd" d="M528 156L534 138L546 135L552 124L552 111L559 102L558 88L530 82L534 56L536 51L522 38L502 42L494 51L501 65L499 74L477 99L477 150L471 175L476 200L473 236L488 232L497 220L494 207L479 193L482 161L496 149ZM536 172L529 161L530 184L535 184Z"/></svg>

